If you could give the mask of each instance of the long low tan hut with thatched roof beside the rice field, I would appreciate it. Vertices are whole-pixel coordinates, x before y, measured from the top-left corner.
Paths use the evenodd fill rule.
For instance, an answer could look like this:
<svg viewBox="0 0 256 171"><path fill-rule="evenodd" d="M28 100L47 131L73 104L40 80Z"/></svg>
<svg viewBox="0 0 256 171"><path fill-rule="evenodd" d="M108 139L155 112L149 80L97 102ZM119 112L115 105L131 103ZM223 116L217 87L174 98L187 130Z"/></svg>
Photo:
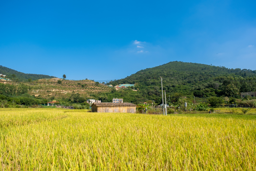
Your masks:
<svg viewBox="0 0 256 171"><path fill-rule="evenodd" d="M132 103L93 103L92 112L135 113L136 105Z"/></svg>

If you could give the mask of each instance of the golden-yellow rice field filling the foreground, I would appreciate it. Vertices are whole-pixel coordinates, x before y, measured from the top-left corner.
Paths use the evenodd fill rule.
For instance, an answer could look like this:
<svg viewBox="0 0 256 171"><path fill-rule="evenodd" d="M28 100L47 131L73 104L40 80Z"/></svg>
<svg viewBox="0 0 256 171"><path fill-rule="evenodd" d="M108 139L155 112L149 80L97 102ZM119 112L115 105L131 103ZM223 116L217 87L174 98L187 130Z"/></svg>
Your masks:
<svg viewBox="0 0 256 171"><path fill-rule="evenodd" d="M256 115L1 109L1 170L256 170Z"/></svg>

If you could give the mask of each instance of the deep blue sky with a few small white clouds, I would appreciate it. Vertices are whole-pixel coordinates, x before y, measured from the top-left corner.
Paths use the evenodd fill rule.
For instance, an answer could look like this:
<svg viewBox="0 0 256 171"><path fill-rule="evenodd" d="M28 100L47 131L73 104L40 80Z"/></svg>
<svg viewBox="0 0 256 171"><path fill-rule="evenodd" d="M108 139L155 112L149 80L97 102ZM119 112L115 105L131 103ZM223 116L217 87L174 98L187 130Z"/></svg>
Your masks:
<svg viewBox="0 0 256 171"><path fill-rule="evenodd" d="M170 61L256 70L256 1L1 1L0 64L120 79Z"/></svg>

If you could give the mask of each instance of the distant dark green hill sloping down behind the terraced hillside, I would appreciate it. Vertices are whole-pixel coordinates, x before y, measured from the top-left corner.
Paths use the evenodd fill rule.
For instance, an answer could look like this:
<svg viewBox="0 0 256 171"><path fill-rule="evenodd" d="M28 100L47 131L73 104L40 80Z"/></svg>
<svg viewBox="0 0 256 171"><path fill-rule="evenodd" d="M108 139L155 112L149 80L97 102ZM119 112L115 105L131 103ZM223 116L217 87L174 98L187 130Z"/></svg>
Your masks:
<svg viewBox="0 0 256 171"><path fill-rule="evenodd" d="M16 70L7 68L5 66L0 65L0 74L6 75L7 78L13 79L12 74L15 74L15 79L19 79L19 81L27 81L28 78L32 80L42 79L42 78L54 78L53 76L49 75L42 75L42 74L25 74L23 72L18 72Z"/></svg>

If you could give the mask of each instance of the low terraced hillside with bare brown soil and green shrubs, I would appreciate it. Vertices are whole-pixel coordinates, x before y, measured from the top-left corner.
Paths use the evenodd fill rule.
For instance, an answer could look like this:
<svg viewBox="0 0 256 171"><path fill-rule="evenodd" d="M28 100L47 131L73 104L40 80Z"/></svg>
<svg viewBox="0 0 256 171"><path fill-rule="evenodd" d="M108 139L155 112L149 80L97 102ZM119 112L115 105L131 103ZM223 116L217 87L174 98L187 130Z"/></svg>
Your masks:
<svg viewBox="0 0 256 171"><path fill-rule="evenodd" d="M8 84L9 83L9 84ZM111 88L91 80L62 80L60 78L39 79L16 83L0 81L0 107L21 107L19 105L47 104L57 100L62 105L84 104L92 95L110 92Z"/></svg>

